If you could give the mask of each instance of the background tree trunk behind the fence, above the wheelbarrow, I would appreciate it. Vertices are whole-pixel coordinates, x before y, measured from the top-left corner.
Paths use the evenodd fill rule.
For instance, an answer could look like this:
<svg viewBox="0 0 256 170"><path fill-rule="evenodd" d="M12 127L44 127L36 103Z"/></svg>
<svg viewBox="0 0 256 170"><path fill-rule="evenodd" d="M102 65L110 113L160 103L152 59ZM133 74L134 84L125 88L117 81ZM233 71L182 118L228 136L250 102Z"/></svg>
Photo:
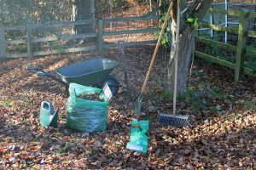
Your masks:
<svg viewBox="0 0 256 170"><path fill-rule="evenodd" d="M95 4L94 0L73 0L73 12L71 20L94 20ZM86 34L95 32L95 25L74 26L74 34Z"/></svg>

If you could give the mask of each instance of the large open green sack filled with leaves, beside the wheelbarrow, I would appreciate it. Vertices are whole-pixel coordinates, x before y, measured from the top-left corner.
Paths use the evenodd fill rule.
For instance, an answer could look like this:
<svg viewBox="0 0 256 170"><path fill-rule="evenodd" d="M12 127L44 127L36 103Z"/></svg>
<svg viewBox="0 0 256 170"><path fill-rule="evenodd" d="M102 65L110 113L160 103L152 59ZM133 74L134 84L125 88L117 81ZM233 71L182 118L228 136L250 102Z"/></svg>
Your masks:
<svg viewBox="0 0 256 170"><path fill-rule="evenodd" d="M67 99L68 128L83 133L106 130L108 102L79 98L80 94L96 94L101 92L102 89L99 88L91 88L76 83L70 83L70 96Z"/></svg>

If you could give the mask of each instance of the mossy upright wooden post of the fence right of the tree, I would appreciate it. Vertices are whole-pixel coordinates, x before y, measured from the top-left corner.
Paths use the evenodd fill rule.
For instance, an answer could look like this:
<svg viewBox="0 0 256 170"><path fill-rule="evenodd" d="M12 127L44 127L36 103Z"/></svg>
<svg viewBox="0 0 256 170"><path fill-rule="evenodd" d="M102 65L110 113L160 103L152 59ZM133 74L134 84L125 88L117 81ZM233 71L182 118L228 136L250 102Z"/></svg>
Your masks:
<svg viewBox="0 0 256 170"><path fill-rule="evenodd" d="M235 81L238 82L241 78L242 65L246 55L246 42L247 42L247 26L248 26L248 13L241 14L239 17L238 28L238 42L236 49L236 71Z"/></svg>

